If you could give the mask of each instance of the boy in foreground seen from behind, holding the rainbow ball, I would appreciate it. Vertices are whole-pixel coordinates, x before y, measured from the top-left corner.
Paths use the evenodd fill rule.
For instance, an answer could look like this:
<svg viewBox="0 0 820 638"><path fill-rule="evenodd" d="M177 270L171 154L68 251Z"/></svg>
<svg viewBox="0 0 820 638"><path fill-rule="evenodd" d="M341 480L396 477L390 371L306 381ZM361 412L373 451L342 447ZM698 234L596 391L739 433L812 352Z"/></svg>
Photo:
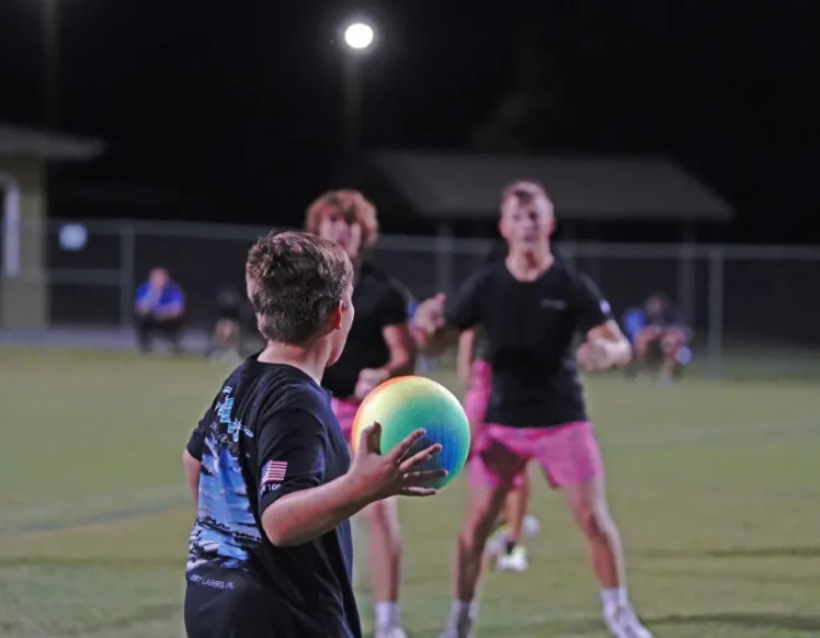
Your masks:
<svg viewBox="0 0 820 638"><path fill-rule="evenodd" d="M223 384L183 454L197 503L186 569L189 638L361 638L349 519L443 472L410 458L419 430L380 455L366 429L351 465L321 388L353 321L344 250L299 232L251 249L248 296L266 348Z"/></svg>

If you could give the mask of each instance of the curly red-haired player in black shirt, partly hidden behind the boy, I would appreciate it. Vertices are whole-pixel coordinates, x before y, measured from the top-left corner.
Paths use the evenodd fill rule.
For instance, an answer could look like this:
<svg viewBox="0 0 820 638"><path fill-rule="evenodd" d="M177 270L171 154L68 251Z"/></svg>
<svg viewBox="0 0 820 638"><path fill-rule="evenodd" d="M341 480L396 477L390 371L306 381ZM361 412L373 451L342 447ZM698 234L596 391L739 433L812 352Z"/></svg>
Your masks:
<svg viewBox="0 0 820 638"><path fill-rule="evenodd" d="M399 285L365 257L378 238L378 220L375 207L362 193L341 190L322 194L309 206L305 227L341 244L355 269L356 316L344 352L322 378L350 441L362 399L388 378L413 373L415 344L408 326L408 299ZM378 501L364 510L364 516L376 638L405 638L398 604L401 532L397 503Z"/></svg>

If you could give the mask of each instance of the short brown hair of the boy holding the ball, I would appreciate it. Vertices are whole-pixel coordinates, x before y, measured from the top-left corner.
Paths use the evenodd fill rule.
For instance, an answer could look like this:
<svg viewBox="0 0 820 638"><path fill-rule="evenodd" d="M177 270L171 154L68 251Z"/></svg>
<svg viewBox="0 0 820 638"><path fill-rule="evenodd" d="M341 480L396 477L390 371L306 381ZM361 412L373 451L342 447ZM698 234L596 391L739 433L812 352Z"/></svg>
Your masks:
<svg viewBox="0 0 820 638"><path fill-rule="evenodd" d="M353 265L333 241L305 232L273 231L248 252L248 298L269 341L303 345L342 303Z"/></svg>

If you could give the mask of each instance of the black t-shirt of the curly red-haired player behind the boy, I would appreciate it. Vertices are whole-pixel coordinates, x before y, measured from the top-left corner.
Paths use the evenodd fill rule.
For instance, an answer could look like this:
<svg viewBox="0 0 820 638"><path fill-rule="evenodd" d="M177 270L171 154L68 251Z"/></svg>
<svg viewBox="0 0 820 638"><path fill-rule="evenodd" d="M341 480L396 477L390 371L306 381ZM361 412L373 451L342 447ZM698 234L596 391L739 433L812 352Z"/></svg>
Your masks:
<svg viewBox="0 0 820 638"><path fill-rule="evenodd" d="M373 264L358 271L353 288L355 317L339 361L324 371L322 386L334 397L353 396L358 373L390 361L381 331L408 320L409 299L399 285Z"/></svg>

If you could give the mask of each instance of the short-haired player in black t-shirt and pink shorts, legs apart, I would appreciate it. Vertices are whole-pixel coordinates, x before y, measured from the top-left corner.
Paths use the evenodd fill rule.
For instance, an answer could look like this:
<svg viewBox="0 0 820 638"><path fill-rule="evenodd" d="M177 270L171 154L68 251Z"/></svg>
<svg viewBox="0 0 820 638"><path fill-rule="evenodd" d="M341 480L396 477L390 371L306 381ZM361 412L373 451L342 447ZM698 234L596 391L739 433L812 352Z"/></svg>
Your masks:
<svg viewBox="0 0 820 638"><path fill-rule="evenodd" d="M470 277L446 308L443 295L422 303L415 318L431 352L462 330L481 327L492 374L487 423L469 460L469 505L442 637L475 636L485 544L515 477L535 459L562 490L586 536L610 634L651 638L627 595L620 537L610 515L601 452L576 364L577 357L589 371L622 366L631 348L592 282L556 263L553 204L539 184L519 182L504 190L499 226L510 248L506 260ZM578 332L584 340L573 357Z"/></svg>

